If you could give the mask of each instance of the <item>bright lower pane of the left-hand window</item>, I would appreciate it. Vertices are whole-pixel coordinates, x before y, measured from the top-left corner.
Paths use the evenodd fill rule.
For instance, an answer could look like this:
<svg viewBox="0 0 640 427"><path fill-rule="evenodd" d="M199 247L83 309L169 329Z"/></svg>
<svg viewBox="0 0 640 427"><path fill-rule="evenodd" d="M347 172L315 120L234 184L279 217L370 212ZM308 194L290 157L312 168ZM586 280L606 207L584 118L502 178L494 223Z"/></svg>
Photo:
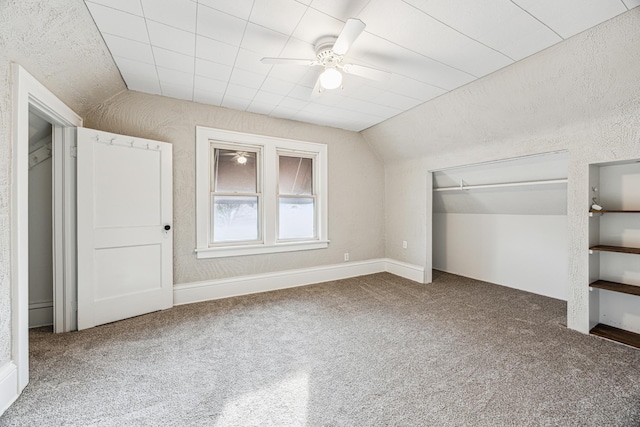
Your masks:
<svg viewBox="0 0 640 427"><path fill-rule="evenodd" d="M258 240L258 197L212 196L214 243Z"/></svg>

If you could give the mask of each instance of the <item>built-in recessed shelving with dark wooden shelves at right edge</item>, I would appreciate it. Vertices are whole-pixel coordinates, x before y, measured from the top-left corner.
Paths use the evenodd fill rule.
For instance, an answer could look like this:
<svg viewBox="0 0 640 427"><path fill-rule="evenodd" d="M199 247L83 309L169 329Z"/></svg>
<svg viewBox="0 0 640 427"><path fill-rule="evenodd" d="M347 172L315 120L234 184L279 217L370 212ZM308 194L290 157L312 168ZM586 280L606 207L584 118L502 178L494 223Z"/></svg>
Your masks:
<svg viewBox="0 0 640 427"><path fill-rule="evenodd" d="M640 348L640 164L590 165L589 182L590 333Z"/></svg>

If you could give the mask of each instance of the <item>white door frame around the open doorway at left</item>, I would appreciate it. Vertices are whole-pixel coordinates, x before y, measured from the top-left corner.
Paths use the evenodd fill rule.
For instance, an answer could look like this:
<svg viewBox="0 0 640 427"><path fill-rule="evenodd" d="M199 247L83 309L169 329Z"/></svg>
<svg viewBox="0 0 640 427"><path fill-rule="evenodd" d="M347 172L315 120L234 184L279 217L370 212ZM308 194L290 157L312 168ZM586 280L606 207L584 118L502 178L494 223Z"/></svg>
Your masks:
<svg viewBox="0 0 640 427"><path fill-rule="evenodd" d="M72 165L70 155L74 128L82 126L82 118L20 65L12 64L12 77L11 357L17 369L17 393L20 394L29 383L29 109L53 125L56 170L53 177L54 319L61 316L63 322L73 317L67 305L75 292L70 285L75 284L76 275L75 244L72 240L75 239L75 225L71 222L75 217L68 215L75 209L71 193L74 186L70 181L75 180L75 168L66 166ZM61 155L63 152L65 155ZM58 196L62 196L62 202ZM69 210L69 207L73 209ZM60 250L62 253L58 252ZM64 303L59 298L63 298Z"/></svg>

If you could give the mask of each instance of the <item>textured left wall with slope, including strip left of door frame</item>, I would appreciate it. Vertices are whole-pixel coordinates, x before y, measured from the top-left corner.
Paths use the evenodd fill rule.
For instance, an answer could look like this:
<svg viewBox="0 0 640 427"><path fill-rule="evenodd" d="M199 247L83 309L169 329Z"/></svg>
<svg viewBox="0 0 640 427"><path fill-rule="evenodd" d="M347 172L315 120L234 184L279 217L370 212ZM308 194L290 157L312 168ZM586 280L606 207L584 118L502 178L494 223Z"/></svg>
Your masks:
<svg viewBox="0 0 640 427"><path fill-rule="evenodd" d="M82 0L0 0L0 366L11 357L11 63L78 114L125 90Z"/></svg>

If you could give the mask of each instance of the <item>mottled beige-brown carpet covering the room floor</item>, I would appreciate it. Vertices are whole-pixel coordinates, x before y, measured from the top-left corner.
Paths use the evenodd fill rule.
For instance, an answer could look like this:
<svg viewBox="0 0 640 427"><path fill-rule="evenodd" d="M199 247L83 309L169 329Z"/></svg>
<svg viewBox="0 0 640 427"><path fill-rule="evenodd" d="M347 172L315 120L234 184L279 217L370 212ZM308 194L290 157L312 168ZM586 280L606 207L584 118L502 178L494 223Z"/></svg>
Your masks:
<svg viewBox="0 0 640 427"><path fill-rule="evenodd" d="M638 426L640 351L562 301L381 273L30 334L2 426Z"/></svg>

